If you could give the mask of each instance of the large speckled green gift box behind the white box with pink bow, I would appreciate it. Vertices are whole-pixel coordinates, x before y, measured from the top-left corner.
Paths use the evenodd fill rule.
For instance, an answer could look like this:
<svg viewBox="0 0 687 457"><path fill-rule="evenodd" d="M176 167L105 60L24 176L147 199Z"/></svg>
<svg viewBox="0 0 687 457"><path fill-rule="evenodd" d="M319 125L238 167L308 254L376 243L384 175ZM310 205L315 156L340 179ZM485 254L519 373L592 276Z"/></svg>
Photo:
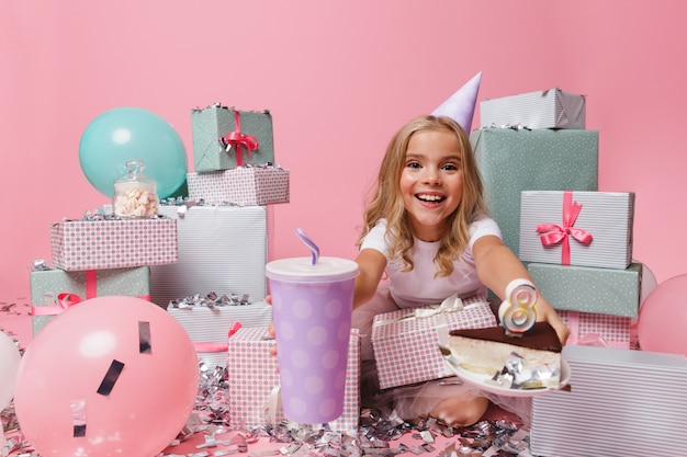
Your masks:
<svg viewBox="0 0 687 457"><path fill-rule="evenodd" d="M597 191L596 130L483 128L470 135L487 206L518 254L522 191Z"/></svg>

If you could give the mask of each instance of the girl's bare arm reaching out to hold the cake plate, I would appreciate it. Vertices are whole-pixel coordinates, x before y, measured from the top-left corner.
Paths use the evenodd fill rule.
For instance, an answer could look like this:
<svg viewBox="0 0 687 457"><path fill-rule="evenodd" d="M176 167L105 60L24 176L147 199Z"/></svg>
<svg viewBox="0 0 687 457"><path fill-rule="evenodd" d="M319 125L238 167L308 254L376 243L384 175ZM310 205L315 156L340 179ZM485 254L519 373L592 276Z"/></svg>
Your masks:
<svg viewBox="0 0 687 457"><path fill-rule="evenodd" d="M475 241L472 252L475 256L480 281L494 290L502 300L506 299L506 286L513 279L532 281L522 262L498 237L485 236L480 238ZM555 309L541 294L539 294L534 308L537 310L537 320L548 321L555 330L561 343L565 344L570 330L555 312Z"/></svg>

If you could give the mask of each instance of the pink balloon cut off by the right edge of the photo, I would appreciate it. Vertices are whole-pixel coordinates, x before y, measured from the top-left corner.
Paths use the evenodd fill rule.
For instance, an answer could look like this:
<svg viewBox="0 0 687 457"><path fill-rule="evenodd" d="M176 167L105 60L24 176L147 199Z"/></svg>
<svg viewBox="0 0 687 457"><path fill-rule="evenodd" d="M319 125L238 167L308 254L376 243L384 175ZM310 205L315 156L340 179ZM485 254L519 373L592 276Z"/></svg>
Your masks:
<svg viewBox="0 0 687 457"><path fill-rule="evenodd" d="M687 274L658 284L640 308L642 351L687 355Z"/></svg>

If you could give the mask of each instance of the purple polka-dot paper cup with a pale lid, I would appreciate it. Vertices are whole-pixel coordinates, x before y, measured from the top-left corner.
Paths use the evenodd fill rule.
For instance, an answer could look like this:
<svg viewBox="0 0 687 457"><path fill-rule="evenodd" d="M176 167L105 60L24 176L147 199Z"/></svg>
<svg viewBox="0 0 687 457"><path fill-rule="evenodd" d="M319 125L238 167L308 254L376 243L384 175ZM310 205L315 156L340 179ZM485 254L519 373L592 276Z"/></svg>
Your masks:
<svg viewBox="0 0 687 457"><path fill-rule="evenodd" d="M358 264L293 258L267 264L286 419L330 422L344 412L346 367Z"/></svg>

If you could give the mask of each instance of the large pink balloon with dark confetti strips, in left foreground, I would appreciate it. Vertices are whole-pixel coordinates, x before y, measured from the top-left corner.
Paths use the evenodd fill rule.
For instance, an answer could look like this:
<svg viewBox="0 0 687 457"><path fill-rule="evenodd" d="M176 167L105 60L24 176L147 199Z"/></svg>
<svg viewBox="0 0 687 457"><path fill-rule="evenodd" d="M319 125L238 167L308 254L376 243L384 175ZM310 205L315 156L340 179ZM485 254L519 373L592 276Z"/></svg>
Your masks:
<svg viewBox="0 0 687 457"><path fill-rule="evenodd" d="M150 457L183 429L198 384L193 344L167 311L140 298L98 297L36 334L14 408L40 455Z"/></svg>

